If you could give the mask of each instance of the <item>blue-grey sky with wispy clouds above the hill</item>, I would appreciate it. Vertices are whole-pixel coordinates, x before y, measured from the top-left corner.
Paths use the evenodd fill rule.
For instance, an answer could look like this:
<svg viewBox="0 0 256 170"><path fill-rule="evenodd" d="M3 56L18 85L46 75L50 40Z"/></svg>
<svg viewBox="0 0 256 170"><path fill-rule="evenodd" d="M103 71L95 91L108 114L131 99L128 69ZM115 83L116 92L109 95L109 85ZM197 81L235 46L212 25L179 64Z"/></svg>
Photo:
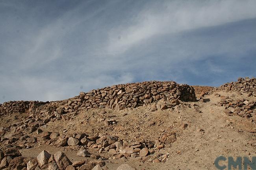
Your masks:
<svg viewBox="0 0 256 170"><path fill-rule="evenodd" d="M256 0L0 0L0 103L256 77Z"/></svg>

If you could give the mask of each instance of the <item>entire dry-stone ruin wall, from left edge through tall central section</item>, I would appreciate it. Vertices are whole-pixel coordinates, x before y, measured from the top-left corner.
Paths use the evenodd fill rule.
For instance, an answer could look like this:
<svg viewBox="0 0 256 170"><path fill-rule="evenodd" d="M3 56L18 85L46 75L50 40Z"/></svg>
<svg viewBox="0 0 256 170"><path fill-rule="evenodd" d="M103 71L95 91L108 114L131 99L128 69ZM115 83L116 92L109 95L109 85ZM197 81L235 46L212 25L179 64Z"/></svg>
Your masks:
<svg viewBox="0 0 256 170"><path fill-rule="evenodd" d="M144 104L158 103L160 108L167 109L178 105L179 101L195 101L193 87L178 84L174 81L137 82L113 85L87 93L80 92L76 97L64 101L9 101L0 104L0 115L11 113L40 113L49 110L51 113L62 114L77 110L91 110L95 108L110 108L122 110L135 108ZM52 106L53 105L53 106Z"/></svg>

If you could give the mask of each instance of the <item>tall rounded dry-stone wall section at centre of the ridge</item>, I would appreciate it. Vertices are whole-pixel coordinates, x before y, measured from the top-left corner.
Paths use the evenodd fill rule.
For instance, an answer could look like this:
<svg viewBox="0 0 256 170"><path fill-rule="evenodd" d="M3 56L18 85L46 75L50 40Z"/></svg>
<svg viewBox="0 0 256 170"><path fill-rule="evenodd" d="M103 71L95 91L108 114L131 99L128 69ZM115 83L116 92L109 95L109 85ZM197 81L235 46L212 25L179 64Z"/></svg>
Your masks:
<svg viewBox="0 0 256 170"><path fill-rule="evenodd" d="M181 101L195 101L195 91L193 87L176 82L141 82L114 85L87 93L80 92L79 96L70 99L64 112L74 112L75 110L90 110L93 108L111 108L122 110L124 108L135 108L158 102L161 99L167 106L175 106ZM173 102L172 102L173 101ZM168 108L168 107L165 107Z"/></svg>

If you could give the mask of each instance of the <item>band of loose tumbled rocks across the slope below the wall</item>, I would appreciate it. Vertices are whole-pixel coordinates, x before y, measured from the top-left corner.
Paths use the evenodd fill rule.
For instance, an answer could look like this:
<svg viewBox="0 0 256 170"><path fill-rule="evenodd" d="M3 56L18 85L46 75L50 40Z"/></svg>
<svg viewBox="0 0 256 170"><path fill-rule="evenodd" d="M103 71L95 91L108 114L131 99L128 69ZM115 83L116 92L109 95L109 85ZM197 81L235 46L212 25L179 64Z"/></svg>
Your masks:
<svg viewBox="0 0 256 170"><path fill-rule="evenodd" d="M34 119L24 120L19 124L12 124L9 127L0 127L0 141L4 146L19 146L21 148L30 148L34 144L48 144L57 147L79 146L81 148L92 148L98 153L107 153L119 159L124 157L145 157L164 148L165 144L171 144L176 141L175 133L168 133L160 137L157 141L124 141L115 135L97 134L86 135L85 133L74 133L70 135L60 135L56 132L47 132L40 129L44 122L33 121ZM85 157L98 159L98 155L91 155L83 152Z"/></svg>

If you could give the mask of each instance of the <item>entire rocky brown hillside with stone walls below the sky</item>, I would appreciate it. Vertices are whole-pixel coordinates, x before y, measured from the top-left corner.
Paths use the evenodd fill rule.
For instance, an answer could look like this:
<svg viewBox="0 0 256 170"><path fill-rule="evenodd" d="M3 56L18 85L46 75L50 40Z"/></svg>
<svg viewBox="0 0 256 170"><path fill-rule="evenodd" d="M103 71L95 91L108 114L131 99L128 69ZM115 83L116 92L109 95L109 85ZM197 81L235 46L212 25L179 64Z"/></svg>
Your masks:
<svg viewBox="0 0 256 170"><path fill-rule="evenodd" d="M0 170L216 169L255 152L256 79L138 82L0 104ZM210 153L210 154L209 154Z"/></svg>

